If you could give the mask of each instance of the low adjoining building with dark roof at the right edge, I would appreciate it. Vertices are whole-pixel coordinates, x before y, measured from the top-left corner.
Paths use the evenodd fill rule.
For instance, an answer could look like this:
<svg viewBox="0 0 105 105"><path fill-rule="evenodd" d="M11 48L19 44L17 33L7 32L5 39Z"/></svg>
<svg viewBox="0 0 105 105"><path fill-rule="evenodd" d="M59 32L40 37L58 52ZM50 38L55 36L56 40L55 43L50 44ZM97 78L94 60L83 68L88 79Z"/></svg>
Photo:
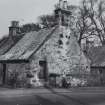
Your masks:
<svg viewBox="0 0 105 105"><path fill-rule="evenodd" d="M87 53L91 60L91 74L95 75L94 82L105 85L105 46L91 47Z"/></svg>

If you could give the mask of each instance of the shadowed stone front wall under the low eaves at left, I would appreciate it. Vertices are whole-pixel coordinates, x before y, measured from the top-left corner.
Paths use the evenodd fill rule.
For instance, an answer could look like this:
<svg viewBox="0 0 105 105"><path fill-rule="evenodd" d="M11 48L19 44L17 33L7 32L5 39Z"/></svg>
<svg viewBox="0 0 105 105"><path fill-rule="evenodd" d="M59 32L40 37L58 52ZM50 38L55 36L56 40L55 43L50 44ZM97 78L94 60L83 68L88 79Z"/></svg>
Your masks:
<svg viewBox="0 0 105 105"><path fill-rule="evenodd" d="M29 64L6 64L7 84L16 87L24 87L28 83L27 74L30 71Z"/></svg>

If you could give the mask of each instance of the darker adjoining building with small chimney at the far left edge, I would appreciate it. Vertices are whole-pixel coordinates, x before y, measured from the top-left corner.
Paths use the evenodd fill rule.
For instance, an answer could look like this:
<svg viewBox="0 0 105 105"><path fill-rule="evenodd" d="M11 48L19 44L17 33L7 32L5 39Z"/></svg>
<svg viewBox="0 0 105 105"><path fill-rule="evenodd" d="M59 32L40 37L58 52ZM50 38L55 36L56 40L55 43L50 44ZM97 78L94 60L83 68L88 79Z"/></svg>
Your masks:
<svg viewBox="0 0 105 105"><path fill-rule="evenodd" d="M20 34L19 22L12 21L8 36L0 40L0 56L8 52L23 36L24 34ZM0 84L2 84L3 81L3 65L0 64Z"/></svg>

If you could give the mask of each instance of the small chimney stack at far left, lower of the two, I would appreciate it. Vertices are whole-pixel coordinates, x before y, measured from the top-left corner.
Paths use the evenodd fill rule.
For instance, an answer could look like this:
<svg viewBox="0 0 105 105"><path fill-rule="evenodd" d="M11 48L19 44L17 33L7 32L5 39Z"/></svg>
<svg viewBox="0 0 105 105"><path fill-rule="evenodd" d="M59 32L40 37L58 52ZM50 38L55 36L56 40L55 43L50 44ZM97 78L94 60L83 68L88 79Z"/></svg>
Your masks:
<svg viewBox="0 0 105 105"><path fill-rule="evenodd" d="M16 36L19 32L19 21L11 21L11 26L9 27L9 35Z"/></svg>

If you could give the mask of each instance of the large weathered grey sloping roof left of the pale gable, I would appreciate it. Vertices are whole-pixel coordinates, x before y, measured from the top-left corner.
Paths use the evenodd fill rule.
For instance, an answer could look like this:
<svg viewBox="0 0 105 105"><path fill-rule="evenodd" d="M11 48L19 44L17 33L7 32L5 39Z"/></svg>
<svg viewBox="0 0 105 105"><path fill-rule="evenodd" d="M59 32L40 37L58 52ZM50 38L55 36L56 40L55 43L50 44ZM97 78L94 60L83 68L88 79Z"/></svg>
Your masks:
<svg viewBox="0 0 105 105"><path fill-rule="evenodd" d="M37 51L54 32L54 28L29 32L21 38L8 52L0 56L0 62L13 60L27 60Z"/></svg>

